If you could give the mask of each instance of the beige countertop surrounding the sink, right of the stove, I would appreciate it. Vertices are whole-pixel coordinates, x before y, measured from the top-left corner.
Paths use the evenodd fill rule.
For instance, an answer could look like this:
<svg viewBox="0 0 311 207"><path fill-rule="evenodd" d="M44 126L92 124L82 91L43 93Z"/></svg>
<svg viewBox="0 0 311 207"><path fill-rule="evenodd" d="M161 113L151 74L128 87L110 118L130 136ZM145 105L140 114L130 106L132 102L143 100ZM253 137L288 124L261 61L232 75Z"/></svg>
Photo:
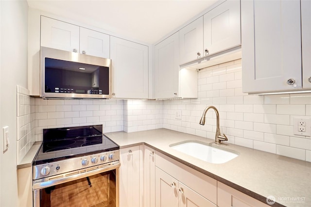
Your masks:
<svg viewBox="0 0 311 207"><path fill-rule="evenodd" d="M219 147L211 139L169 129L111 132L105 135L119 144L120 148L145 144L264 203L272 195L276 198L274 207L311 207L311 162L223 142L220 147L237 151L239 156L226 163L212 164L169 146L193 140Z"/></svg>

